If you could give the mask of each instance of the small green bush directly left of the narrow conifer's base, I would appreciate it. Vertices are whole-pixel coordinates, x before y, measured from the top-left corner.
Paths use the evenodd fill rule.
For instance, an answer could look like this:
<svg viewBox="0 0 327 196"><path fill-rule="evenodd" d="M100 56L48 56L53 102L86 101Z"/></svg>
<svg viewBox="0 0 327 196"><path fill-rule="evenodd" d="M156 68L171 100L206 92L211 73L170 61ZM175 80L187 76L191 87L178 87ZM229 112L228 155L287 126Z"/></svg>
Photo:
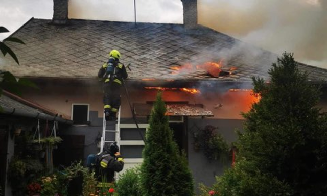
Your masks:
<svg viewBox="0 0 327 196"><path fill-rule="evenodd" d="M139 167L127 169L116 182L118 196L142 196Z"/></svg>

